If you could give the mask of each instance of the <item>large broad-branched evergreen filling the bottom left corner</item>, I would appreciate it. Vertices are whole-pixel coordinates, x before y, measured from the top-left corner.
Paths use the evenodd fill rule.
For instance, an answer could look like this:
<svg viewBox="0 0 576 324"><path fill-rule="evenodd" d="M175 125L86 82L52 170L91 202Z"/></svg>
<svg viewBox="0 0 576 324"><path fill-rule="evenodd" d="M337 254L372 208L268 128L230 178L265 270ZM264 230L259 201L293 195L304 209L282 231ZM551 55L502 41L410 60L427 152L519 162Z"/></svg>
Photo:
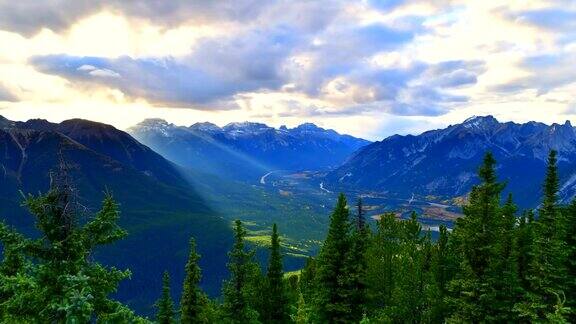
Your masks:
<svg viewBox="0 0 576 324"><path fill-rule="evenodd" d="M106 194L95 217L79 225L73 189L61 172L46 194L24 201L39 236L27 238L0 223L0 321L143 321L108 297L130 272L106 268L89 257L96 248L126 236L117 225L117 204Z"/></svg>

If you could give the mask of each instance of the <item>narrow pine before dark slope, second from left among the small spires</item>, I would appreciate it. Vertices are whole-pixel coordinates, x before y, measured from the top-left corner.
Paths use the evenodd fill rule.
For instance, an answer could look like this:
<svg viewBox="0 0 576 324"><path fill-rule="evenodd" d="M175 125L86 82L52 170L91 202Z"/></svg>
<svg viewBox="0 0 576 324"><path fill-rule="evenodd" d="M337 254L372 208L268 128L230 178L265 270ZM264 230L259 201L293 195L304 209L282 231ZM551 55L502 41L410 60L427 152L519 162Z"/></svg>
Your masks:
<svg viewBox="0 0 576 324"><path fill-rule="evenodd" d="M207 297L198 287L201 279L199 260L200 255L196 253L196 241L192 238L190 239L190 255L185 267L186 277L180 300L180 322L183 324L209 323L206 314L204 314Z"/></svg>

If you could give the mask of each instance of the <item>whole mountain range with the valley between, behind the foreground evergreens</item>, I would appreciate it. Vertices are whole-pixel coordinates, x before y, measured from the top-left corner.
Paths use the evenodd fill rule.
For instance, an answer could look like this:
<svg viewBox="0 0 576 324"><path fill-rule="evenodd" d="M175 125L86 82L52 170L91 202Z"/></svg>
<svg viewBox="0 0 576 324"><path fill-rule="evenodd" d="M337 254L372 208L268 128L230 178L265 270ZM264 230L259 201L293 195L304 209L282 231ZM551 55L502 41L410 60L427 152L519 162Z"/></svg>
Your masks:
<svg viewBox="0 0 576 324"><path fill-rule="evenodd" d="M278 223L285 248L291 249L285 264L297 269L322 239L330 212L326 206L339 191L406 200L464 198L478 183L485 152L491 151L506 192L514 193L522 207L536 207L551 149L558 151L560 194L568 201L576 194L576 131L570 122L517 124L474 117L371 143L313 124L176 126L148 119L124 132L81 119L17 122L0 116L0 216L34 233L19 191L46 191L62 157L78 201L88 211L97 210L105 191L120 203L120 223L129 236L98 251L96 258L133 270L117 297L151 314L161 273L168 270L174 282L182 282L190 237L202 254L203 287L218 294L231 219L245 220L255 242ZM280 170L288 172L279 186L263 181ZM173 287L175 296L179 290Z"/></svg>

